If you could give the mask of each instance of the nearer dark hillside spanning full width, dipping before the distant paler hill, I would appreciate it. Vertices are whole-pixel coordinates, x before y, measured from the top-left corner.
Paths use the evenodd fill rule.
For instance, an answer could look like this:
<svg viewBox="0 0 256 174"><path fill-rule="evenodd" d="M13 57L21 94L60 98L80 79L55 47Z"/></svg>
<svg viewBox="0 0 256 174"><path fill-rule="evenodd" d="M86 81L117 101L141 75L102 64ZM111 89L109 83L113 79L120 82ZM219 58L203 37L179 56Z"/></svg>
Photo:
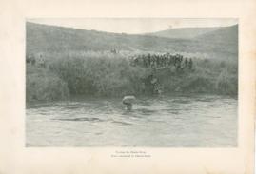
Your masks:
<svg viewBox="0 0 256 174"><path fill-rule="evenodd" d="M165 38L144 34L118 34L29 22L26 24L26 31L28 54L63 50L97 51L116 48L130 51L139 49L158 52L206 53L209 58L237 58L237 26L213 29L194 39ZM194 31L191 32L194 33Z"/></svg>

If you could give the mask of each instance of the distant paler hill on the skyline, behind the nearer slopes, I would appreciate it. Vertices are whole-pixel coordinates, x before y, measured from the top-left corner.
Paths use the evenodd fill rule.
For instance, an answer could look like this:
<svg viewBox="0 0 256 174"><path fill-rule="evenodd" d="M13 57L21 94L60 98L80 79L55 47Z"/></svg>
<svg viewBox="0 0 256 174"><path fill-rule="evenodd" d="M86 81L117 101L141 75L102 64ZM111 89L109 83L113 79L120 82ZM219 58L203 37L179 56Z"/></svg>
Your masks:
<svg viewBox="0 0 256 174"><path fill-rule="evenodd" d="M176 39L193 39L207 32L211 32L220 28L180 28L180 29L166 29L157 32L147 33L146 35L176 38Z"/></svg>

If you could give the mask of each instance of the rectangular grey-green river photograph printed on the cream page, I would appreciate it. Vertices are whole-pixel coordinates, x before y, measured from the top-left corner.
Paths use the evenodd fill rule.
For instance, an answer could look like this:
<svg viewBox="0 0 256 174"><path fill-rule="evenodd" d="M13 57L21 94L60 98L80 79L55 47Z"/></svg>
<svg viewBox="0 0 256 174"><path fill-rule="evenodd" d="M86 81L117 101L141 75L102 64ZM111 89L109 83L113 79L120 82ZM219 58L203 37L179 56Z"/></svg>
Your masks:
<svg viewBox="0 0 256 174"><path fill-rule="evenodd" d="M28 18L27 147L237 147L236 18Z"/></svg>

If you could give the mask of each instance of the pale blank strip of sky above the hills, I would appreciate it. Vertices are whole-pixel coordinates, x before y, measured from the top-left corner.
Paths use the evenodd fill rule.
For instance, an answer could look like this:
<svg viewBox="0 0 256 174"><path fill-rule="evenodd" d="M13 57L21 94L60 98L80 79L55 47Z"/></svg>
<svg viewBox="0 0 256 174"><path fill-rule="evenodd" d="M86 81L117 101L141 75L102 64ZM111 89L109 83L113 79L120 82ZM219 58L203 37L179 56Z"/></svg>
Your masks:
<svg viewBox="0 0 256 174"><path fill-rule="evenodd" d="M33 18L27 21L128 34L155 32L170 28L226 27L238 24L235 18Z"/></svg>

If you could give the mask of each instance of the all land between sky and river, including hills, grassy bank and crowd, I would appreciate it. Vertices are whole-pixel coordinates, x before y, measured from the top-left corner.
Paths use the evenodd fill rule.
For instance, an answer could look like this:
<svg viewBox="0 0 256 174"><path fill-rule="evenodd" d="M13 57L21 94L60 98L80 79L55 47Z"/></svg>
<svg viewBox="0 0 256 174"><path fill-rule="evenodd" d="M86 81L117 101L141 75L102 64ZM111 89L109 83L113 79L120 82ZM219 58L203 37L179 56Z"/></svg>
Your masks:
<svg viewBox="0 0 256 174"><path fill-rule="evenodd" d="M76 95L237 95L238 26L185 29L186 38L172 38L184 29L130 35L27 23L26 30L27 102Z"/></svg>

